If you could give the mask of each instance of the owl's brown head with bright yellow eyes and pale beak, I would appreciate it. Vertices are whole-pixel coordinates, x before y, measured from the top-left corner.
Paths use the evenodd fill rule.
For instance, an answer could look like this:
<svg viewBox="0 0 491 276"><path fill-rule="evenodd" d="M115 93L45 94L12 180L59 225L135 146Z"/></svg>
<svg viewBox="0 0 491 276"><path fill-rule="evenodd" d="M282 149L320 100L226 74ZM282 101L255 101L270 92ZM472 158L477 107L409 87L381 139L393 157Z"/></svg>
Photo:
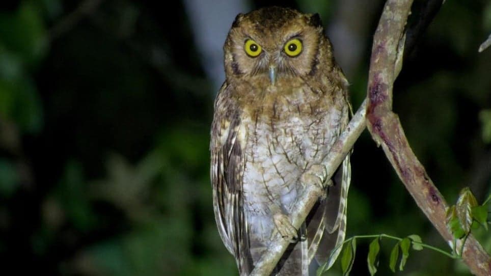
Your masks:
<svg viewBox="0 0 491 276"><path fill-rule="evenodd" d="M239 14L224 45L227 78L256 78L268 85L314 76L332 68L332 50L318 14L270 7Z"/></svg>

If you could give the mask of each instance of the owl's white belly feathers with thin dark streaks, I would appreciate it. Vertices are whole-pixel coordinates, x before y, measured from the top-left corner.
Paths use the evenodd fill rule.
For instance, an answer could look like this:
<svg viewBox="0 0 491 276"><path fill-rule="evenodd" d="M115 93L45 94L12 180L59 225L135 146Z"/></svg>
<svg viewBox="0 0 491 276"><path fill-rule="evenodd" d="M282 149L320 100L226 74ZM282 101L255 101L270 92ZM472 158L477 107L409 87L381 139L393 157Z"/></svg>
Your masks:
<svg viewBox="0 0 491 276"><path fill-rule="evenodd" d="M294 208L302 173L320 163L340 129L341 112L334 108L316 111L315 116L298 106L275 108L275 120L259 113L242 118L249 133L243 145L243 208L250 233L260 240L267 240L274 229L275 208L285 214Z"/></svg>

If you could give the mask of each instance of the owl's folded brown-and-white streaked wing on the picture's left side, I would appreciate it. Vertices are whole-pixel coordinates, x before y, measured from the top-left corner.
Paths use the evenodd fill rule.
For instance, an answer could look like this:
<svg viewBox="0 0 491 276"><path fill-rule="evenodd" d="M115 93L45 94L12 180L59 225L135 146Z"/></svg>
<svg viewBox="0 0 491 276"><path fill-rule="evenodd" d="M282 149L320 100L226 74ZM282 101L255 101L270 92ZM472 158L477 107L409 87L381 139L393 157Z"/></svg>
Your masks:
<svg viewBox="0 0 491 276"><path fill-rule="evenodd" d="M230 96L230 87L222 86L215 101L211 127L211 181L213 210L220 236L234 255L239 270L251 271L247 223L242 204L242 176L245 141L240 132L240 111Z"/></svg>

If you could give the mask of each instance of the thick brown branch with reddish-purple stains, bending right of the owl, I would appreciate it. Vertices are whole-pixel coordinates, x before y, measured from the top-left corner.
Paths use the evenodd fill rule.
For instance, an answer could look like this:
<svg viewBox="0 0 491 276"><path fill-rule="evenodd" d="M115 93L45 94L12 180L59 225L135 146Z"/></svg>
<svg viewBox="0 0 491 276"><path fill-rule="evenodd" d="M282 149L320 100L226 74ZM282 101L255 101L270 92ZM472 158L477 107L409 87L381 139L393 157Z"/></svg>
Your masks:
<svg viewBox="0 0 491 276"><path fill-rule="evenodd" d="M389 0L380 18L370 62L367 126L419 208L452 246L453 237L445 220L447 203L414 155L397 115L392 112L392 87L401 67L403 29L412 2ZM491 275L491 259L472 235L463 247L462 259L472 273Z"/></svg>

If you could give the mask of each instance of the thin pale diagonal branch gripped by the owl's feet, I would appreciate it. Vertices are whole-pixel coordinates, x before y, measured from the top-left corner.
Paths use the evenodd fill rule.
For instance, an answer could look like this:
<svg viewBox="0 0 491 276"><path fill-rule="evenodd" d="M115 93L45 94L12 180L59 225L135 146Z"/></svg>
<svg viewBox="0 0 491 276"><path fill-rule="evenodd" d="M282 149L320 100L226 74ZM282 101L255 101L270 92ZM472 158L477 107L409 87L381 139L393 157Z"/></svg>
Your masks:
<svg viewBox="0 0 491 276"><path fill-rule="evenodd" d="M351 119L346 129L341 133L338 140L331 148L328 156L326 156L325 162L323 163L328 171L326 179L330 179L333 176L336 169L353 147L354 142L357 141L358 137L365 129L366 106L367 100L363 101L353 119ZM321 194L322 190L320 187L309 185L298 197L298 204L295 205L295 212L291 214L292 225L296 229L300 228ZM276 238L271 241L267 252L265 252L261 259L256 263L251 275L259 276L271 274L271 271L276 267L276 264L285 252L288 244L289 241L278 234Z"/></svg>

